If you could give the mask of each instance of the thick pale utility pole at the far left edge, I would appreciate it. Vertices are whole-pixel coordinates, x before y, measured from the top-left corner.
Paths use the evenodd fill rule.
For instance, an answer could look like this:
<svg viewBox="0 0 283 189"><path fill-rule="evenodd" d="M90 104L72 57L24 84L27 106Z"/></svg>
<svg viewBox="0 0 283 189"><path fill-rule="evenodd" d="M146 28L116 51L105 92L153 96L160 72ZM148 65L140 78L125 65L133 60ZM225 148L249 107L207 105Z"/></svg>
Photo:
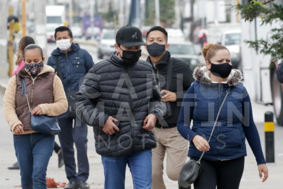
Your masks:
<svg viewBox="0 0 283 189"><path fill-rule="evenodd" d="M8 60L7 60L7 18L8 18L8 0L0 0L0 77L7 77Z"/></svg>

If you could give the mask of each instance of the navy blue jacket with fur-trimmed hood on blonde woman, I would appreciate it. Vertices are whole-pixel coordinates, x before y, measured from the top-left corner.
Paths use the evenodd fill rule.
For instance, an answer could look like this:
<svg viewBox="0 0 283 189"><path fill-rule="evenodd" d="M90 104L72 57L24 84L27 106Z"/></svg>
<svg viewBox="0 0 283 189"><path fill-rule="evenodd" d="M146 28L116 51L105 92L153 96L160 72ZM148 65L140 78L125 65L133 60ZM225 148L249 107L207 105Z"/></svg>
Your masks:
<svg viewBox="0 0 283 189"><path fill-rule="evenodd" d="M192 139L200 135L208 141L226 91L231 86L209 142L210 149L204 153L203 159L230 160L246 156L247 138L257 163L265 163L250 99L243 84L239 83L242 73L232 70L226 84L213 83L209 78L209 70L202 67L195 69L194 78L196 81L184 97L177 124L181 135L190 141L188 156L201 156L202 151L195 147ZM191 120L193 126L190 129Z"/></svg>

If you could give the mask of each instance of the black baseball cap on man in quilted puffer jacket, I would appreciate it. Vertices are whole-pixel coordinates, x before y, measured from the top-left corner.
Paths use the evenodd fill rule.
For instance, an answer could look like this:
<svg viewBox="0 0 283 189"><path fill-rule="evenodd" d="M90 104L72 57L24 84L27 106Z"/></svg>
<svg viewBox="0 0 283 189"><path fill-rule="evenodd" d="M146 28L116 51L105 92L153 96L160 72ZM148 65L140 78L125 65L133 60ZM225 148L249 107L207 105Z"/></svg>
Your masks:
<svg viewBox="0 0 283 189"><path fill-rule="evenodd" d="M125 25L117 31L116 43L126 47L147 45L142 41L141 30L131 25Z"/></svg>

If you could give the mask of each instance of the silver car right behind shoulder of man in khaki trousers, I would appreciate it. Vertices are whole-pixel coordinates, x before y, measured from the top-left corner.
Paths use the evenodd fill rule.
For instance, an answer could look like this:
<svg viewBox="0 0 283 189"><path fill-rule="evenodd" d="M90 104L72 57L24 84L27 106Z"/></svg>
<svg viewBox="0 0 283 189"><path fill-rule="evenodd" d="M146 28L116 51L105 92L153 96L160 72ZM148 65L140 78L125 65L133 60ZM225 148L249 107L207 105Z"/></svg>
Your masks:
<svg viewBox="0 0 283 189"><path fill-rule="evenodd" d="M170 42L169 44L168 51L171 56L184 60L192 71L197 66L202 66L192 42Z"/></svg>

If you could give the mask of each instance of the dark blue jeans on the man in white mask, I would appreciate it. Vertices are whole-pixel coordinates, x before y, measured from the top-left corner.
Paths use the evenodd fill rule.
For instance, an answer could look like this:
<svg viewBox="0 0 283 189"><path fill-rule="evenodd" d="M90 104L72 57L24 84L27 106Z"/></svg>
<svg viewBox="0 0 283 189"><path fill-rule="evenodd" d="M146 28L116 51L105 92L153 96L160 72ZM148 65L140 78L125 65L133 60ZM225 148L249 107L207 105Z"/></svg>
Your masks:
<svg viewBox="0 0 283 189"><path fill-rule="evenodd" d="M78 121L73 127L73 120L66 113L58 117L61 127L59 140L63 152L65 172L69 182L86 181L89 176L87 125ZM76 172L74 143L77 148L78 173Z"/></svg>

